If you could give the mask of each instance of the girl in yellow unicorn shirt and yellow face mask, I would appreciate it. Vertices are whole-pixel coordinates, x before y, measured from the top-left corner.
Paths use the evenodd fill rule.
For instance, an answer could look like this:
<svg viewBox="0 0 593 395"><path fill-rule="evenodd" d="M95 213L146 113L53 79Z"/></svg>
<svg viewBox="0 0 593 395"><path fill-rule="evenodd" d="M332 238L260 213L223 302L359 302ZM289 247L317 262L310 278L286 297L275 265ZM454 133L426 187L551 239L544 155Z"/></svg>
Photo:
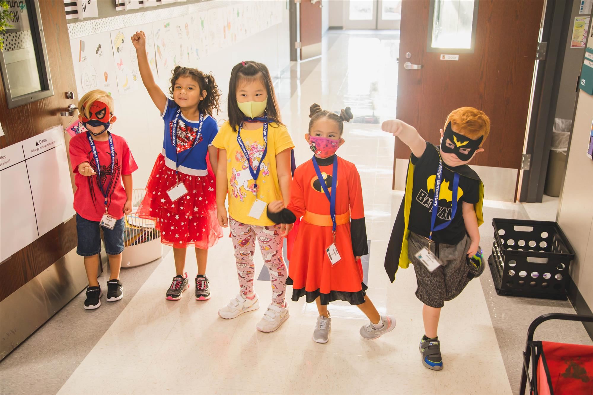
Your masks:
<svg viewBox="0 0 593 395"><path fill-rule="evenodd" d="M257 239L272 283L272 303L257 329L273 332L288 318L282 244L292 225L276 225L267 218L266 206L275 200L288 205L294 144L280 123L278 101L265 65L241 62L232 69L228 117L212 142L219 149L216 205L219 223L231 229L240 292L218 315L235 318L259 308L253 290Z"/></svg>

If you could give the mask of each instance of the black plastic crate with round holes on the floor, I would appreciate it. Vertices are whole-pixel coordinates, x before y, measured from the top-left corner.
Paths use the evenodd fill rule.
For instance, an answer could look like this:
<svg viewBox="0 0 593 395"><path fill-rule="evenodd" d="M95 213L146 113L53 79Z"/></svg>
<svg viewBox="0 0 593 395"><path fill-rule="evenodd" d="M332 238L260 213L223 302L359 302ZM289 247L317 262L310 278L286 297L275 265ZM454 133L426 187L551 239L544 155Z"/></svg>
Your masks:
<svg viewBox="0 0 593 395"><path fill-rule="evenodd" d="M499 295L566 300L575 253L556 222L492 220L488 258Z"/></svg>

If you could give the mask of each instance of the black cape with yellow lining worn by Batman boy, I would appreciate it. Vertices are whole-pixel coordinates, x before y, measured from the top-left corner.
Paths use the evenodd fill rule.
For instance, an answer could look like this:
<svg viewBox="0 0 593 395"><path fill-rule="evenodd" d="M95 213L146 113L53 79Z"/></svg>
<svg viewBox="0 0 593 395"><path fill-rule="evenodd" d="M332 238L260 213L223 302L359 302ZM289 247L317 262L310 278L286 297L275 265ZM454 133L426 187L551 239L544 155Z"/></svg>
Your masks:
<svg viewBox="0 0 593 395"><path fill-rule="evenodd" d="M439 151L438 148L436 148L436 146L432 146L439 152L440 156L441 151ZM448 167L445 163L443 163L443 166L454 173L460 174L460 176L480 181L479 199L478 202L474 205L474 209L476 210L478 226L482 225L484 223L484 215L482 212L484 200L484 184L482 183L482 180L480 180L480 177L478 177L477 173L471 170L471 168L468 165ZM406 269L410 265L410 263L412 263L408 258L407 239L410 234L410 231L408 230L408 224L410 222L410 207L412 206L413 184L414 165L412 164L412 160L410 160L406 176L406 193L404 193L404 198L403 200L401 200L400 209L397 212L396 222L393 225L391 237L389 239L389 244L387 246L387 253L385 253L385 272L387 272L387 275L389 276L391 282L393 282L396 279L396 272L398 267L403 267L403 269Z"/></svg>

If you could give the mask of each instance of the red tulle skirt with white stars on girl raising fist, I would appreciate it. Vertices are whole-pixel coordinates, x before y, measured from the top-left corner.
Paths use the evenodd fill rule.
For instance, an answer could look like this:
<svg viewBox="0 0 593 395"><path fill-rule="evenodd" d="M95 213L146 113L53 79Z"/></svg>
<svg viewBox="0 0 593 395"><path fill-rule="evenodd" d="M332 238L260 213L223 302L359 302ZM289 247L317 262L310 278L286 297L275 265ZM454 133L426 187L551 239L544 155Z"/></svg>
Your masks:
<svg viewBox="0 0 593 395"><path fill-rule="evenodd" d="M208 161L207 161L208 162ZM175 248L196 247L206 250L222 237L216 216L216 181L208 168L208 176L189 176L179 172L187 193L174 202L167 191L176 185L175 170L167 167L162 154L146 185L146 195L136 213L157 222L161 243Z"/></svg>

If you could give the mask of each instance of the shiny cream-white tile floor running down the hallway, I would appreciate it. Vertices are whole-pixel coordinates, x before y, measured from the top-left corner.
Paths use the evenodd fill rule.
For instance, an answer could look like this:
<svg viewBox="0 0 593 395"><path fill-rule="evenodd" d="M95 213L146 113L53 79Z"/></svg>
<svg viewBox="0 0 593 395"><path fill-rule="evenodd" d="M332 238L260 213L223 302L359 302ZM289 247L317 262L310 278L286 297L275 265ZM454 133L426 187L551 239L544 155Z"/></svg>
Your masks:
<svg viewBox="0 0 593 395"><path fill-rule="evenodd" d="M374 113L385 119L394 114L397 37L330 35L329 40L335 41L329 52L282 109L297 146L297 163L311 156L302 135L312 103L331 110L348 105L355 116ZM369 62L366 55L377 53L384 59ZM414 296L413 270L400 270L391 284L383 269L401 199L401 193L391 191L394 138L382 133L380 125L369 124L347 125L344 138L339 154L357 165L364 188L371 240L368 294L381 312L396 316L394 332L365 341L358 334L366 323L358 308L336 303L330 307L330 342L320 345L311 339L315 307L302 300L289 302L291 317L274 333L256 330L263 309L222 320L216 311L238 286L231 242L225 237L210 251L210 301L196 302L193 288L181 301L165 301L174 274L169 254L59 393L511 393L479 281L448 302L442 315L445 369L433 372L420 363L422 304ZM261 257L256 263L263 266ZM195 266L187 269L190 278L195 276ZM263 301L271 297L267 282L256 281L256 290Z"/></svg>

